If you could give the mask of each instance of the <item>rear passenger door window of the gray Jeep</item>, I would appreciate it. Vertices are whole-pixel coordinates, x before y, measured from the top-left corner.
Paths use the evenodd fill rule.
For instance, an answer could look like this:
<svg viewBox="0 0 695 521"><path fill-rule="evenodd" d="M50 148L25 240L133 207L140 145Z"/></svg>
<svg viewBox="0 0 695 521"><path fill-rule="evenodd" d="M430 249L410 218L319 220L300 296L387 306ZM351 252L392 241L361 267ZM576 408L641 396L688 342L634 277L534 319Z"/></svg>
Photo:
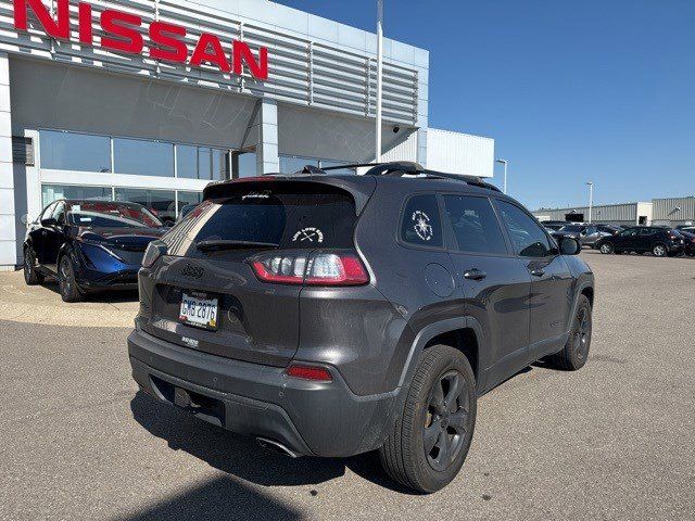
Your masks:
<svg viewBox="0 0 695 521"><path fill-rule="evenodd" d="M444 195L446 216L462 252L507 253L507 246L490 200Z"/></svg>

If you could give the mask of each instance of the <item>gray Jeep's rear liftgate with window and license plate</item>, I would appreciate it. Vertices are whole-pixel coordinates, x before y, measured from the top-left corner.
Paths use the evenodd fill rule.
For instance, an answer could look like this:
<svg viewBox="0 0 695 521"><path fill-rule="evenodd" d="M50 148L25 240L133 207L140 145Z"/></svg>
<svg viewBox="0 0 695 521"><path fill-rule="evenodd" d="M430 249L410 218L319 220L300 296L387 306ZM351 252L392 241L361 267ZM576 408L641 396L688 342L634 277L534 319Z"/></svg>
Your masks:
<svg viewBox="0 0 695 521"><path fill-rule="evenodd" d="M330 183L269 179L211 187L163 238L147 332L228 358L290 361L305 283L292 275L315 252L354 251L355 196ZM266 277L273 270L278 280ZM207 322L192 322L201 317Z"/></svg>

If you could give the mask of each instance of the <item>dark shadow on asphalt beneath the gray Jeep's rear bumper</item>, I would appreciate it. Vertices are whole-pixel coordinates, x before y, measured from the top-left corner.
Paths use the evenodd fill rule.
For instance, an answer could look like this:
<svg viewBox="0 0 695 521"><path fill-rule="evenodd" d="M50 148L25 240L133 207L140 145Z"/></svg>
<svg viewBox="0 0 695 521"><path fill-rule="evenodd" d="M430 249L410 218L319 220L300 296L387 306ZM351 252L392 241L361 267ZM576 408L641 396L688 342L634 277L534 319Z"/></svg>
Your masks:
<svg viewBox="0 0 695 521"><path fill-rule="evenodd" d="M403 494L412 491L389 479L374 453L351 458L289 458L264 449L254 440L205 423L176 407L138 391L130 402L135 420L165 440L173 450L184 450L227 474L264 486L316 485L343 476L349 468L357 475ZM244 519L239 516L238 519Z"/></svg>

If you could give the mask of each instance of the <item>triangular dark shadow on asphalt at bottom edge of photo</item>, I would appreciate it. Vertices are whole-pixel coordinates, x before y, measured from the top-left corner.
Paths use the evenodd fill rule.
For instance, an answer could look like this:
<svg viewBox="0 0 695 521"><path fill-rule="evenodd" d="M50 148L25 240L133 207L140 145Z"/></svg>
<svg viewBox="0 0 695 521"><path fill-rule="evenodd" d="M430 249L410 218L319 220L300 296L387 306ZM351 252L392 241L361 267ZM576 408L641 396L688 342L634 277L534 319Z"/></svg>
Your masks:
<svg viewBox="0 0 695 521"><path fill-rule="evenodd" d="M227 476L211 479L192 490L125 517L122 521L299 520L294 508Z"/></svg>

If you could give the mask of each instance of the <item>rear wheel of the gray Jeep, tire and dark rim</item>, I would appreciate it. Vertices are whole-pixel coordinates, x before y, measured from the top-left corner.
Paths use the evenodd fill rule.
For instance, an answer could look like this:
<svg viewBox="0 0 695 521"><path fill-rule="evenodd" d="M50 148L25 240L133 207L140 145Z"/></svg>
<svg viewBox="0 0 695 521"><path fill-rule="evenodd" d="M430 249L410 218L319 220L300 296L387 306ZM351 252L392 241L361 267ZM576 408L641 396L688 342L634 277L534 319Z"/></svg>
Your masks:
<svg viewBox="0 0 695 521"><path fill-rule="evenodd" d="M462 352L434 345L422 353L407 393L379 457L394 481L432 493L456 476L468 454L476 425L476 378Z"/></svg>

